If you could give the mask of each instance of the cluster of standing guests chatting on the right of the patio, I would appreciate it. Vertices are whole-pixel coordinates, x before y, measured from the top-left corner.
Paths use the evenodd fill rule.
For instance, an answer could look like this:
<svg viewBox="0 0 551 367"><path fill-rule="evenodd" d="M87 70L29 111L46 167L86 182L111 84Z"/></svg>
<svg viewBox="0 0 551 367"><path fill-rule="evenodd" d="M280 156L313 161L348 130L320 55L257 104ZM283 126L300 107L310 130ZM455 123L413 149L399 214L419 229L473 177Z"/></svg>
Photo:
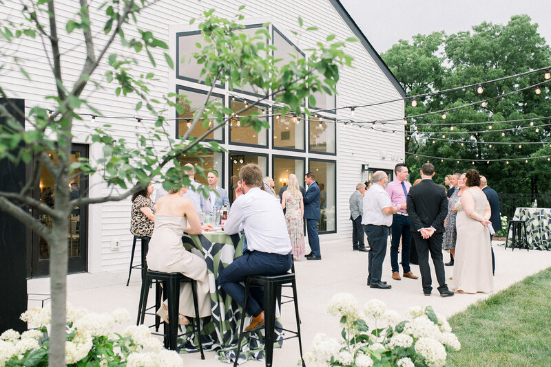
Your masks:
<svg viewBox="0 0 551 367"><path fill-rule="evenodd" d="M440 296L457 293L490 293L494 290L495 258L492 235L501 229L499 199L477 170L445 178L446 188L433 181L435 168L427 163L421 179L411 185L405 164L395 166L395 179L388 182L384 171L373 174L373 186L358 183L349 204L353 224L353 249L368 251L367 284L391 289L382 280L388 236L391 236L391 278L417 279L410 263L418 263L422 290L433 290L428 255L433 260ZM367 236L369 249L364 245ZM446 282L442 249L450 252L454 271ZM401 260L398 263L398 260ZM415 258L415 260L413 260ZM399 267L402 266L402 276Z"/></svg>

